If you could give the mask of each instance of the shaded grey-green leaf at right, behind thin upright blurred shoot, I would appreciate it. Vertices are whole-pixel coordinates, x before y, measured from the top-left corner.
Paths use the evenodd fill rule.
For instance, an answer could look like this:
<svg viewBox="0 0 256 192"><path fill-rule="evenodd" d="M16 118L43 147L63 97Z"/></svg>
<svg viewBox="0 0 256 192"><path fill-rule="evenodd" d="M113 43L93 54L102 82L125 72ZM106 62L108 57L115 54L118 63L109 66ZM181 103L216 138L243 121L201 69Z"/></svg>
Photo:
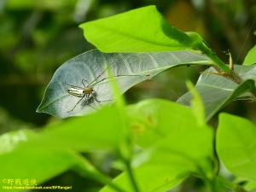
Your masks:
<svg viewBox="0 0 256 192"><path fill-rule="evenodd" d="M232 102L238 96L251 96L249 93L255 89L254 80L256 80L256 67L236 66L235 71L244 81L236 84L230 79L207 72L214 71L208 69L206 73L202 73L198 79L195 88L202 96L206 108L206 119L212 116L220 109L224 108L228 103ZM246 95L243 95L247 93ZM186 93L177 102L189 105L192 96Z"/></svg>

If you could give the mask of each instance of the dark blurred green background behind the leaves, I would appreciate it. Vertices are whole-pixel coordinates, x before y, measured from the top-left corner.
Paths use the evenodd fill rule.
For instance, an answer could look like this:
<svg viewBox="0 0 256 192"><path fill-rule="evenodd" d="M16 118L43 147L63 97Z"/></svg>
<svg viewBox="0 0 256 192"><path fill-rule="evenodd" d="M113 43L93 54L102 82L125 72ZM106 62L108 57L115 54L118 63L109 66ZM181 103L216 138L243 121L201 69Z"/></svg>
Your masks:
<svg viewBox="0 0 256 192"><path fill-rule="evenodd" d="M94 49L84 39L79 24L148 4L156 4L173 26L200 33L226 62L229 58L224 52L230 50L234 61L241 64L256 42L255 0L0 0L0 133L40 129L61 121L35 111L56 68ZM185 80L195 83L202 69L169 70L138 84L125 97L130 103L151 97L175 101L186 91ZM233 102L224 110L256 121L254 103ZM96 165L105 160L103 154L89 157ZM105 171L113 172L108 167ZM96 191L101 186L73 172L45 184L73 185L73 191L79 192ZM191 185L200 191L201 183L193 178L179 191L194 191Z"/></svg>

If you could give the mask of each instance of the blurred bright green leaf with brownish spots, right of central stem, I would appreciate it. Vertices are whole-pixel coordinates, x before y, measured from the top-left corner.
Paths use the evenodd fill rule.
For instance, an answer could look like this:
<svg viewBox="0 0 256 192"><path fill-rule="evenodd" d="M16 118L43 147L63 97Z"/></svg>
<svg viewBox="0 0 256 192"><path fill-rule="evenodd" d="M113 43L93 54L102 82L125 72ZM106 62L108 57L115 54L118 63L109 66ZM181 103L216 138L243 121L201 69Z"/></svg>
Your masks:
<svg viewBox="0 0 256 192"><path fill-rule="evenodd" d="M189 157L186 160L198 160L199 164L212 157L212 130L199 125L190 108L152 99L131 106L129 113L136 143L142 148L159 145L170 153Z"/></svg>

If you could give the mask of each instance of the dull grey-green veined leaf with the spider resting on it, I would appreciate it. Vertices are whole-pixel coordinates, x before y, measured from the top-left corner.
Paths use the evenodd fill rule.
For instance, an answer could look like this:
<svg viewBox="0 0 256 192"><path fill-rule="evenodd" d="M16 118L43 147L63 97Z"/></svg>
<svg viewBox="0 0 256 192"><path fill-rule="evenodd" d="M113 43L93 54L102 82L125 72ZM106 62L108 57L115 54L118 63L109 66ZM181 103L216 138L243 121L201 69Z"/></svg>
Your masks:
<svg viewBox="0 0 256 192"><path fill-rule="evenodd" d="M209 60L205 55L197 55L189 51L159 52L159 53L113 53L106 54L98 50L91 50L64 63L58 68L49 82L44 99L38 107L37 112L52 114L56 117L67 118L74 115L90 113L101 105L109 102L98 103L90 100L89 105L78 104L73 111L70 111L81 99L72 96L67 89L73 84L84 87L82 79L92 82L104 72L108 66L116 77L121 93L130 89L131 86L150 79L154 75L165 71L170 67L183 66L185 64L207 65ZM99 81L108 77L106 73L99 77ZM95 84L96 98L99 101L113 99L109 79ZM85 98L84 98L85 99Z"/></svg>

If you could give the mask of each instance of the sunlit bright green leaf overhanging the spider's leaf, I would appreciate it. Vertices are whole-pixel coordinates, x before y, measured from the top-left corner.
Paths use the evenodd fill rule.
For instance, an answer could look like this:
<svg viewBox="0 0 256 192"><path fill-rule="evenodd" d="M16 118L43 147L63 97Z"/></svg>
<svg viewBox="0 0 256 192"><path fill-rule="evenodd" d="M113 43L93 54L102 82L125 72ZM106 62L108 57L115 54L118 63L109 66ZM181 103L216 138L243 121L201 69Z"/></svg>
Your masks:
<svg viewBox="0 0 256 192"><path fill-rule="evenodd" d="M171 26L155 6L80 25L84 37L103 52L150 52L192 48L202 42L195 32Z"/></svg>

